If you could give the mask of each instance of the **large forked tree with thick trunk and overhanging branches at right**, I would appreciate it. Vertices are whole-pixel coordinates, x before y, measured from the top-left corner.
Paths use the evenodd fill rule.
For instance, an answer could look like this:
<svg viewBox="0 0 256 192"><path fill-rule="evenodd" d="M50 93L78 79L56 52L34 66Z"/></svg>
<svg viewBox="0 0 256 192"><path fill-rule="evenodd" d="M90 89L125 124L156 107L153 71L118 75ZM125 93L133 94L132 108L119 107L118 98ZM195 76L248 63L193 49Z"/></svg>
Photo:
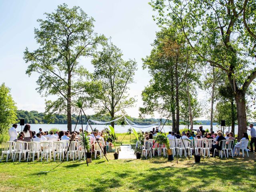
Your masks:
<svg viewBox="0 0 256 192"><path fill-rule="evenodd" d="M151 4L161 25L179 26L198 59L226 73L236 101L240 140L247 126L246 93L256 77L256 2L157 0Z"/></svg>

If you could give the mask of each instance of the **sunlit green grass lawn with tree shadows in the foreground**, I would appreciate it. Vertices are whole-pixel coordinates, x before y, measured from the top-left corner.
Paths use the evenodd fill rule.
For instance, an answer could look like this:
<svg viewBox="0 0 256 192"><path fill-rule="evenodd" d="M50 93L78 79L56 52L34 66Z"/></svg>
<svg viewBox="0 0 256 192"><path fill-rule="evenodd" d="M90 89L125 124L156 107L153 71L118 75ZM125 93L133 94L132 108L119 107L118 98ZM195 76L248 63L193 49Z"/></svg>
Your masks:
<svg viewBox="0 0 256 192"><path fill-rule="evenodd" d="M119 139L123 135L119 136ZM130 142L130 136L125 138ZM134 140L132 140L134 143ZM124 141L123 141L124 143ZM239 158L194 160L155 157L148 160L113 160L113 154L85 162L1 162L0 191L256 191L256 154ZM47 172L50 171L50 172Z"/></svg>

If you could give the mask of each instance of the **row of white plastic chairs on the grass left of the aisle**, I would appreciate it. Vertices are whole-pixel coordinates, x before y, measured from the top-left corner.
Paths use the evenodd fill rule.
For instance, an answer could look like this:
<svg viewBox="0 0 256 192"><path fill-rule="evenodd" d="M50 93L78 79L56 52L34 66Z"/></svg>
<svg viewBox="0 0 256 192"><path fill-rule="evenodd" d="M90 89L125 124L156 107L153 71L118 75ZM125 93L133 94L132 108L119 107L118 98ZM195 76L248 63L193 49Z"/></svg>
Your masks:
<svg viewBox="0 0 256 192"><path fill-rule="evenodd" d="M2 143L2 156L0 161L4 158L4 155L6 154L6 162L8 162L8 158L11 157L13 161L15 161L17 158L19 159L19 162L22 158L26 160L26 154L27 155L27 161L30 160L32 156L32 161L34 161L35 154L37 154L37 158L39 160L39 157L41 155L41 161L43 158L45 158L48 161L48 158L50 157L50 160L52 159L52 155L54 158L54 161L57 159L62 160L64 158L65 153L68 158L78 159L81 160L83 157L85 159L85 152L82 150L82 147L79 146L77 141L70 142L70 147L68 149L69 141L68 140L62 140L62 141L47 141L47 142L23 142L23 141L8 141Z"/></svg>

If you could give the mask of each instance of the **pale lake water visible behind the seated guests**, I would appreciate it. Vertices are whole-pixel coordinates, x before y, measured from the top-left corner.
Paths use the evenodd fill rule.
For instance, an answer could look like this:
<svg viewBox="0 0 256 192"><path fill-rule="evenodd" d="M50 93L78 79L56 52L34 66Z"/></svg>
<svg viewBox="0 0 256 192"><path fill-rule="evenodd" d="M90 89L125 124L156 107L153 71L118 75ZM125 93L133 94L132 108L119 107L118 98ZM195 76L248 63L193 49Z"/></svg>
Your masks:
<svg viewBox="0 0 256 192"><path fill-rule="evenodd" d="M42 128L43 131L49 131L51 128L58 128L59 130L67 130L67 125L66 124L30 124L31 126L31 130L32 131L35 131L36 133L38 133L39 131L39 128ZM198 129L199 126L201 125L194 125L194 129ZM104 128L108 128L108 126L106 125L92 125L92 128L96 128L98 130L103 130ZM154 126L156 127L156 126ZM185 126L184 125L180 125L180 129L184 128ZM24 126L23 126L24 128ZM75 125L72 125L72 130L74 130L75 128ZM79 130L80 128L82 128L81 125L77 125L76 126L76 130ZM83 125L83 128L85 129L86 128L86 124ZM125 133L127 132L128 128L130 128L129 125L125 125L125 126L121 126L121 125L115 125L115 131L117 133ZM150 128L142 128L141 130L142 131L149 131L149 130L152 130L153 126L150 127ZM134 128L135 130L140 130L139 128ZM171 131L172 129L172 126L164 126L164 130L165 132L169 132ZM206 130L206 129L209 129L210 130L210 125L203 125L203 129ZM21 130L21 126L18 125L18 128L17 128L18 131ZM217 130L220 130L220 126L213 126L213 130L216 132ZM88 131L90 132L91 129L90 129L90 126L88 127ZM225 131L228 131L228 127L226 127ZM230 127L230 131L231 131L231 127ZM235 126L235 134L237 134L238 132L238 126ZM250 135L250 131L247 131L247 133Z"/></svg>

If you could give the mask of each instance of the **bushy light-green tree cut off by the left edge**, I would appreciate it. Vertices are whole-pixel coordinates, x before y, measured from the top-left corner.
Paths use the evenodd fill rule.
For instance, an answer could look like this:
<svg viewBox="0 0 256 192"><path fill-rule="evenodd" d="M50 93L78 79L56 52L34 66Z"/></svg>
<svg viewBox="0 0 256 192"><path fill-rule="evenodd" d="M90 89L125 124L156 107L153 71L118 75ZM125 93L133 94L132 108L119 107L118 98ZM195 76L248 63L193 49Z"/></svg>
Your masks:
<svg viewBox="0 0 256 192"><path fill-rule="evenodd" d="M0 85L0 142L8 140L8 128L16 122L16 110L14 100L10 94L10 88L4 83Z"/></svg>

